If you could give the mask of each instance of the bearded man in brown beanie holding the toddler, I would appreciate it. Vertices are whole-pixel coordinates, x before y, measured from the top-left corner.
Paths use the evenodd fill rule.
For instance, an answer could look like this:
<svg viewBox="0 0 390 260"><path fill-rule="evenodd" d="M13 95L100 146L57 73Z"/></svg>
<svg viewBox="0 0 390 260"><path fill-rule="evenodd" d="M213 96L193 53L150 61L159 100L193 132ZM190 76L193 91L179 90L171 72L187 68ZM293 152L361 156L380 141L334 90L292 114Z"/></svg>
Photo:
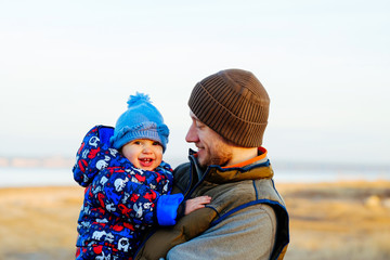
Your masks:
<svg viewBox="0 0 390 260"><path fill-rule="evenodd" d="M174 260L284 258L288 213L261 146L269 105L260 81L242 69L219 72L194 87L185 140L198 151L174 170L176 192L208 195L211 203L155 232L135 259L158 259L168 250Z"/></svg>

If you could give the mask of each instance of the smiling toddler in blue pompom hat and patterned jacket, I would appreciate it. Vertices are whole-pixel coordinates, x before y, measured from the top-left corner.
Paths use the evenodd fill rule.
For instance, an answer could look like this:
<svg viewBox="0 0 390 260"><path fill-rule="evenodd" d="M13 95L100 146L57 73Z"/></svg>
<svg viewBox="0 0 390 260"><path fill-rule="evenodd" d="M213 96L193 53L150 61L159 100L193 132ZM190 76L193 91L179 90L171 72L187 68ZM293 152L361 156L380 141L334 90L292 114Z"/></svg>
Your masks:
<svg viewBox="0 0 390 260"><path fill-rule="evenodd" d="M171 167L162 160L169 129L145 94L128 101L115 129L96 126L77 152L74 179L86 187L78 219L76 259L132 259L152 225L177 219L210 203L170 194Z"/></svg>

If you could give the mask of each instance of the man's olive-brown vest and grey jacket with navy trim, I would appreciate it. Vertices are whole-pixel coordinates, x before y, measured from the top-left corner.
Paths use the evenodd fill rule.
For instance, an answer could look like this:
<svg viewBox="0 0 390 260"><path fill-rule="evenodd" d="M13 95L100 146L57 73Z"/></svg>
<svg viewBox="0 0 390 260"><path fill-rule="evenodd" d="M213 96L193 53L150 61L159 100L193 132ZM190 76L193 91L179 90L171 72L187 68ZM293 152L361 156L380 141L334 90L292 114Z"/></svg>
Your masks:
<svg viewBox="0 0 390 260"><path fill-rule="evenodd" d="M177 225L159 229L134 259L283 259L288 214L265 156L249 166L211 166L205 172L190 156L173 174L177 192L186 198L209 195L212 200Z"/></svg>

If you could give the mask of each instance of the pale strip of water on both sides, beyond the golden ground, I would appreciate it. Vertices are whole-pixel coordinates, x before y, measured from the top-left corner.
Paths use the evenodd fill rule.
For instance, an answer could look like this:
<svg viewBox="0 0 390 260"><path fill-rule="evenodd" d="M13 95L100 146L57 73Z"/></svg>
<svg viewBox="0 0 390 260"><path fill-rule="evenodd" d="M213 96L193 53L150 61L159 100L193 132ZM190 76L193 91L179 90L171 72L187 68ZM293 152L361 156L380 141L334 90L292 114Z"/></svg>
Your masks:
<svg viewBox="0 0 390 260"><path fill-rule="evenodd" d="M315 183L337 181L390 181L389 171L338 170L275 170L276 183ZM0 187L78 185L72 169L55 168L0 168Z"/></svg>

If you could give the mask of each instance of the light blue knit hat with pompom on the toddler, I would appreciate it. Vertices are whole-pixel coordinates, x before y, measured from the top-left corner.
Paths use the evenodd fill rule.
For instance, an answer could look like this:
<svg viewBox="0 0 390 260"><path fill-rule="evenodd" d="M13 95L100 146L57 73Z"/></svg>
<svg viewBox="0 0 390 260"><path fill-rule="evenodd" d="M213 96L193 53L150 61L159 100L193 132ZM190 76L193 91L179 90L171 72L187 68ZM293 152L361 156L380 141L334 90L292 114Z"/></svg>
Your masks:
<svg viewBox="0 0 390 260"><path fill-rule="evenodd" d="M136 92L127 103L128 109L118 118L109 140L113 147L119 150L135 139L148 139L159 142L165 152L169 129L148 95Z"/></svg>

